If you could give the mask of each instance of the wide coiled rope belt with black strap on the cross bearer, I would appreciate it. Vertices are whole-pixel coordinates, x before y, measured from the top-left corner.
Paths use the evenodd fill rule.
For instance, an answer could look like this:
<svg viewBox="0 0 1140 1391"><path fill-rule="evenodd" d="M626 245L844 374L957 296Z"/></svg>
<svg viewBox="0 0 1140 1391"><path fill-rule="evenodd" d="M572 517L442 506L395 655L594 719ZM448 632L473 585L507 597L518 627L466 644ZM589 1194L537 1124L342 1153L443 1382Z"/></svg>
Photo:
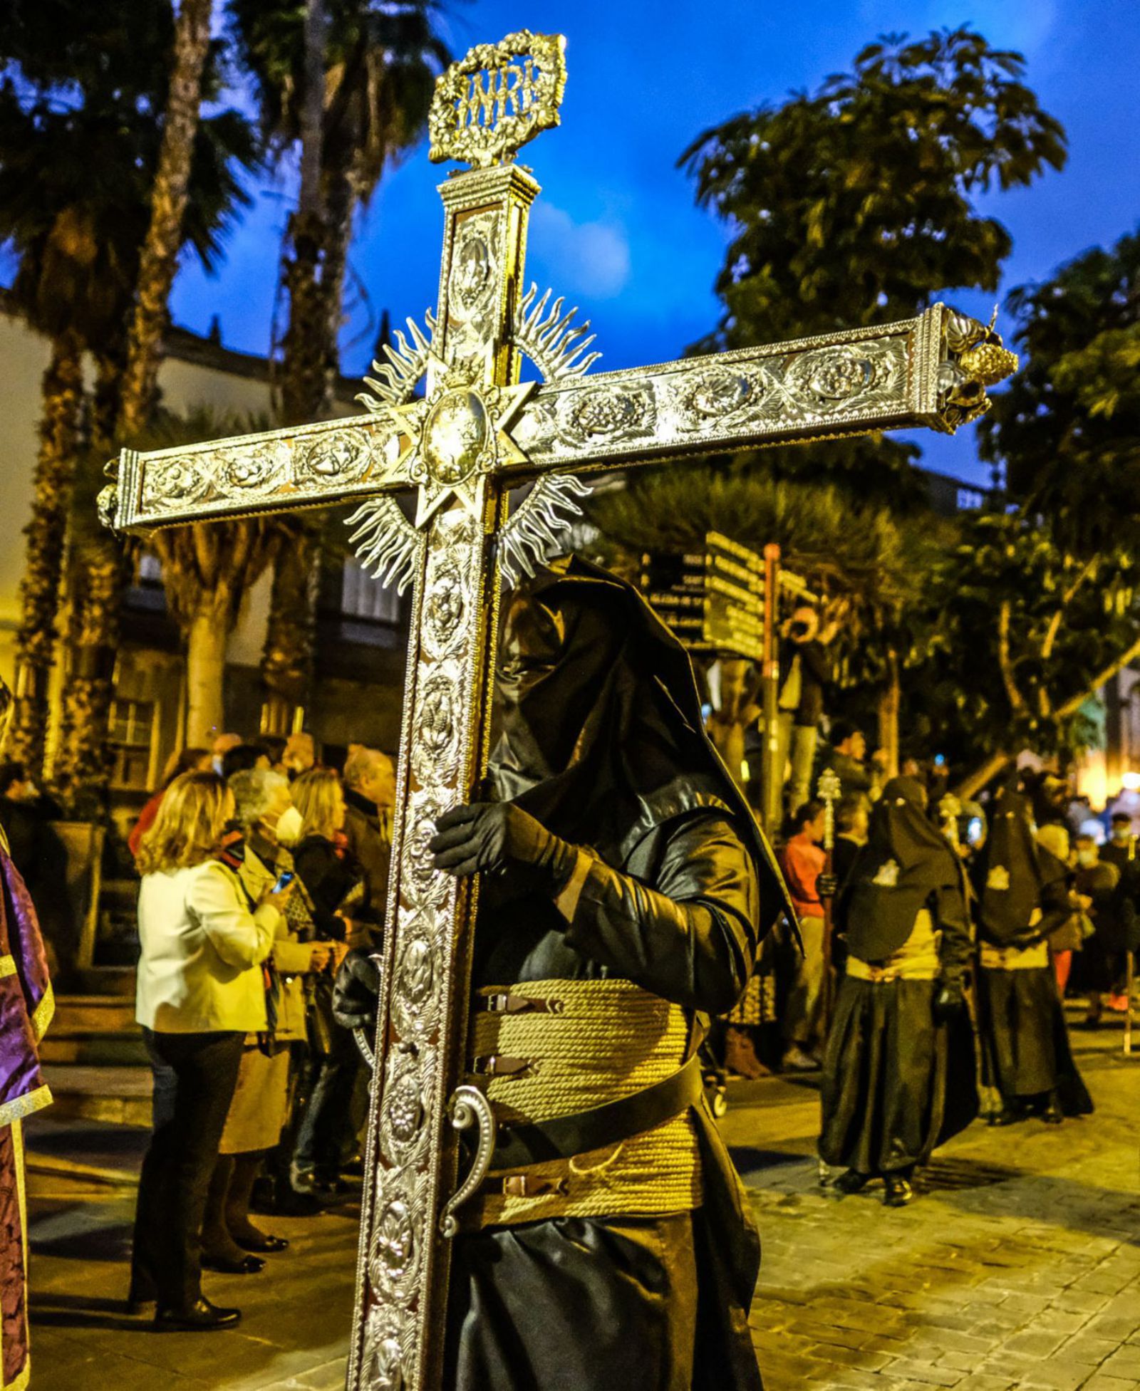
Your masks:
<svg viewBox="0 0 1140 1391"><path fill-rule="evenodd" d="M470 1070L498 1142L465 1225L700 1205L699 1040L681 1006L610 979L493 986L475 1004Z"/></svg>

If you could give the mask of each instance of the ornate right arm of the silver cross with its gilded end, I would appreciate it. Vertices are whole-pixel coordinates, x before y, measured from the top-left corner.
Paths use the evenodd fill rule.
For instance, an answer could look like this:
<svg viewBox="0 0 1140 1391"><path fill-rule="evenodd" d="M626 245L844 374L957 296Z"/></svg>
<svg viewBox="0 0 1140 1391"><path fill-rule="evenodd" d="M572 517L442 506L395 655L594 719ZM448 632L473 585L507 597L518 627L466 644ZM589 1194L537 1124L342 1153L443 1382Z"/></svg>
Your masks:
<svg viewBox="0 0 1140 1391"><path fill-rule="evenodd" d="M881 328L686 357L543 385L512 428L526 469L583 472L835 435L953 433L1018 366L974 319L935 305Z"/></svg>

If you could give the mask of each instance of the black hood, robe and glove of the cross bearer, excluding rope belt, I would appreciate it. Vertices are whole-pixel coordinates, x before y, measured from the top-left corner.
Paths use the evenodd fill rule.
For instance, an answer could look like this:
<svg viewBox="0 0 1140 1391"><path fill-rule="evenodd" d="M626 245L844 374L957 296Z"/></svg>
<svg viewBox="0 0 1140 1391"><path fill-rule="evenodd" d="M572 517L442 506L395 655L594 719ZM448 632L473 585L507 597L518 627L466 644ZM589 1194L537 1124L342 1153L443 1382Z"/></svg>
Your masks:
<svg viewBox="0 0 1140 1391"><path fill-rule="evenodd" d="M788 900L703 732L688 655L636 590L571 559L514 593L496 679L493 800L441 817L433 840L437 868L483 875L473 1004L525 999L528 982L632 982L679 1007L692 1059ZM747 1196L699 1085L681 1114L697 1205L455 1238L448 1388L761 1387Z"/></svg>

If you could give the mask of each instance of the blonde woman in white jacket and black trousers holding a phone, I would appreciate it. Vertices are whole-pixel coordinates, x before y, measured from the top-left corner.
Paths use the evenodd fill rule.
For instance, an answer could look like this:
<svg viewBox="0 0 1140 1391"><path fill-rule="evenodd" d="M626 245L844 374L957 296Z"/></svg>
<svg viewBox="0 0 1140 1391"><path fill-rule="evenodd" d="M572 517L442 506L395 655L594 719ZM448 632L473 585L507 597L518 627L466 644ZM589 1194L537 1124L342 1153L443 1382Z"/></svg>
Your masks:
<svg viewBox="0 0 1140 1391"><path fill-rule="evenodd" d="M135 1017L155 1068L155 1129L139 1181L129 1302L155 1299L163 1328L224 1328L241 1317L202 1296L200 1228L242 1042L266 1027L260 964L288 890L264 893L251 910L223 862L232 815L232 794L216 773L182 773L138 853Z"/></svg>

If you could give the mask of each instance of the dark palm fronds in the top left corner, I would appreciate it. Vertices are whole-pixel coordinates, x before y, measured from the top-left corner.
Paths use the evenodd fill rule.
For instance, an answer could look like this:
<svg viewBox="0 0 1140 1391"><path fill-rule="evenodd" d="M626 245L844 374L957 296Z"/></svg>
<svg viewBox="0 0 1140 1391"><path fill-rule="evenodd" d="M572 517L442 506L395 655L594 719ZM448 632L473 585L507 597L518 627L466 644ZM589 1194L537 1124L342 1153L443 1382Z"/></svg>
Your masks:
<svg viewBox="0 0 1140 1391"><path fill-rule="evenodd" d="M0 11L0 242L18 257L13 292L35 328L102 349L125 332L150 218L171 8L11 0ZM221 86L214 46L206 99ZM200 122L184 236L206 268L248 202L242 171L256 157L238 110Z"/></svg>

